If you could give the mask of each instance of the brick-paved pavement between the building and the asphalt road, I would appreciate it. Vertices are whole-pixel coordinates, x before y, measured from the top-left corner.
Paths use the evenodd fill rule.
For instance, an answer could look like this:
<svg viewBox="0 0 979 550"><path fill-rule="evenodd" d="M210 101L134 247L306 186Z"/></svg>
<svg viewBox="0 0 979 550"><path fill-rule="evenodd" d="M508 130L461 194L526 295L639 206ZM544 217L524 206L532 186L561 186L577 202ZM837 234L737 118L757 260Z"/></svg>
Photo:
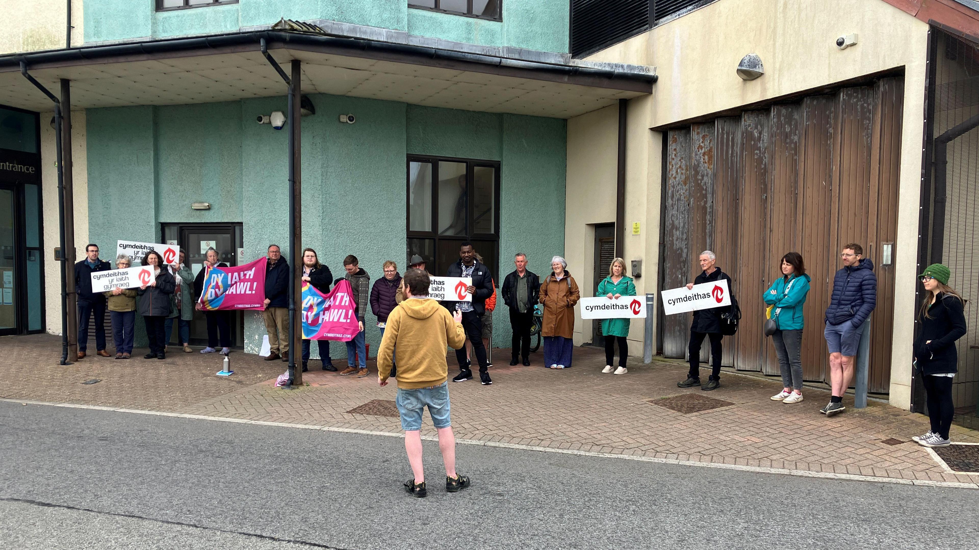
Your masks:
<svg viewBox="0 0 979 550"><path fill-rule="evenodd" d="M392 386L377 385L372 362L365 379L320 371L318 361L304 376L308 386L279 390L272 378L281 362L233 353L235 375L213 375L213 355L177 352L166 361L85 358L57 365L60 340L47 335L0 339L0 396L168 412L286 422L397 433L396 417L349 414L373 399L394 399ZM601 374L604 354L575 350L575 367L551 371L539 366L490 370L494 384L451 384L456 435L496 441L641 455L672 460L736 464L918 481L963 481L975 476L946 473L911 435L927 431L927 418L871 401L869 406L832 418L818 414L828 393L804 390L795 405L771 401L780 381L724 373L712 392L682 390L676 382L686 367L676 361L642 365L630 359L629 374ZM540 353L532 361L540 363ZM451 365L454 361L450 360ZM451 369L454 374L454 369ZM88 378L103 382L91 386ZM683 414L658 406L657 399L685 393L708 395L730 404ZM650 402L652 400L653 402ZM851 399L844 403L852 405ZM426 432L431 420L426 416ZM885 439L904 442L891 445ZM955 427L954 440L979 442L979 432ZM893 441L892 441L893 442Z"/></svg>

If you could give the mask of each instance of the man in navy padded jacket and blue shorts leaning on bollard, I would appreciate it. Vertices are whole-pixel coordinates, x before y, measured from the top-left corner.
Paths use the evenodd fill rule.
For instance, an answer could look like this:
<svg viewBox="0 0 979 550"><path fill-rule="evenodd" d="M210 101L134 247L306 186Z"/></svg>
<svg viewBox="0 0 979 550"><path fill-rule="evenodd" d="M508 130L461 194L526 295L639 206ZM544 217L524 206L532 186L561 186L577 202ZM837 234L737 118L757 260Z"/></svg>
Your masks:
<svg viewBox="0 0 979 550"><path fill-rule="evenodd" d="M829 380L832 395L819 412L833 416L846 410L843 394L850 388L857 365L857 349L864 324L877 305L877 276L873 262L863 257L857 243L844 245L840 253L843 268L833 280L833 295L826 308L823 335L829 348Z"/></svg>

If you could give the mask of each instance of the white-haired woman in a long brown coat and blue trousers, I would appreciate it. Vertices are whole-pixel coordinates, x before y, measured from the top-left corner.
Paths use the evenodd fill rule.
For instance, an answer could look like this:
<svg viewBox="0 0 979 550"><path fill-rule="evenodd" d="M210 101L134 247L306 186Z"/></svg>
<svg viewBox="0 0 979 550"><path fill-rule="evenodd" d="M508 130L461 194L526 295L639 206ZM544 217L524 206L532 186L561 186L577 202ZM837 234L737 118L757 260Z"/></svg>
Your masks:
<svg viewBox="0 0 979 550"><path fill-rule="evenodd" d="M581 298L578 283L568 272L568 262L559 255L551 258L551 274L540 284L540 303L544 318L540 334L544 337L544 366L571 367L575 348L575 304Z"/></svg>

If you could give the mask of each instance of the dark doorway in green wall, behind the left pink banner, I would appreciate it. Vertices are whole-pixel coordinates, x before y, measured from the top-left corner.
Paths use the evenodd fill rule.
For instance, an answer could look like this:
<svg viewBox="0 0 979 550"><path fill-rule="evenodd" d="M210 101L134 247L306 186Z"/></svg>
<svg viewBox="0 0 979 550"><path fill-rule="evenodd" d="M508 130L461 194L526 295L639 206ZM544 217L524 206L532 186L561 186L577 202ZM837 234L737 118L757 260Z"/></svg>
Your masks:
<svg viewBox="0 0 979 550"><path fill-rule="evenodd" d="M204 268L204 259L209 248L217 251L219 261L228 265L238 265L242 260L239 249L242 247L242 225L240 223L194 223L163 224L163 240L176 241L180 250L186 253L185 262L196 277ZM245 316L242 311L231 311L231 344L235 347L245 345ZM170 337L170 344L176 342L177 331ZM190 323L190 344L208 344L208 323L201 312L194 313Z"/></svg>

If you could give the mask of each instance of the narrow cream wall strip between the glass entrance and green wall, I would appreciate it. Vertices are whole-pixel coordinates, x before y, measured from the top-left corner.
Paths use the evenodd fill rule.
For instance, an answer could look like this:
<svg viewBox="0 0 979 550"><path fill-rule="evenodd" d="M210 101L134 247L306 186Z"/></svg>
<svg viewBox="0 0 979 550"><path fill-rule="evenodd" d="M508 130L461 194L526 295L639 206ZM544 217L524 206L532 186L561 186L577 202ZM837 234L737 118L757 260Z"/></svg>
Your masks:
<svg viewBox="0 0 979 550"><path fill-rule="evenodd" d="M47 332L60 335L61 326L61 268L55 260L55 248L60 246L58 223L58 165L55 155L55 131L50 120L54 112L41 113L41 187L44 205L44 308ZM71 112L71 177L74 188L74 250L75 258L85 255L88 244L88 155L85 147L85 112ZM116 248L106 250L102 257L112 260Z"/></svg>

